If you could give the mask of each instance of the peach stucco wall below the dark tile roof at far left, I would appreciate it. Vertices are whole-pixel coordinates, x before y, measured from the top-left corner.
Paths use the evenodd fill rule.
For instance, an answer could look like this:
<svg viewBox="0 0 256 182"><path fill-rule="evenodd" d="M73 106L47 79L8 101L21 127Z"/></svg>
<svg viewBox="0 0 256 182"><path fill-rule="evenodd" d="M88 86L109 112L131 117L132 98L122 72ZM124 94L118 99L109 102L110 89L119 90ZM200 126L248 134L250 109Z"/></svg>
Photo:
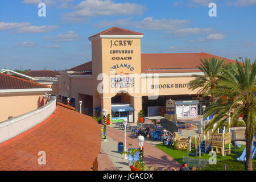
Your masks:
<svg viewBox="0 0 256 182"><path fill-rule="evenodd" d="M0 122L5 121L10 116L16 117L38 109L40 99L44 95L45 93L0 95Z"/></svg>

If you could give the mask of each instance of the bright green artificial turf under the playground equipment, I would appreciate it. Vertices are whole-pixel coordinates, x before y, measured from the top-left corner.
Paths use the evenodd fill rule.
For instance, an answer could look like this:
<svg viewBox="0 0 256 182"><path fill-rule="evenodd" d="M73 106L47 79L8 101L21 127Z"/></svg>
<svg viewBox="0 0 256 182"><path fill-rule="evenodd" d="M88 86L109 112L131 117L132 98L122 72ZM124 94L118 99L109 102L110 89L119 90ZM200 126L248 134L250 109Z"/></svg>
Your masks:
<svg viewBox="0 0 256 182"><path fill-rule="evenodd" d="M183 163L183 156L187 157L187 150L175 150L174 149L174 145L170 146L170 148L167 148L167 146L163 146L163 143L159 143L157 144L155 147L159 148L160 150L162 150L163 152L165 152L166 154L170 155L172 158L174 158L177 162L179 162L180 164ZM229 148L229 144L226 144L225 149ZM227 160L227 159L233 159L236 160L237 158L239 158L242 155L243 150L245 149L245 145L241 145L241 148L237 148L237 152L235 154L234 152L234 146L231 144L231 154L230 155L218 155L217 154L217 161L219 160ZM189 153L193 153L196 154L196 150L195 147L191 149L191 152ZM197 158L199 159L199 156L189 156L189 158ZM209 159L210 155L209 154L201 154L201 159ZM255 159L253 159L253 162L256 162Z"/></svg>

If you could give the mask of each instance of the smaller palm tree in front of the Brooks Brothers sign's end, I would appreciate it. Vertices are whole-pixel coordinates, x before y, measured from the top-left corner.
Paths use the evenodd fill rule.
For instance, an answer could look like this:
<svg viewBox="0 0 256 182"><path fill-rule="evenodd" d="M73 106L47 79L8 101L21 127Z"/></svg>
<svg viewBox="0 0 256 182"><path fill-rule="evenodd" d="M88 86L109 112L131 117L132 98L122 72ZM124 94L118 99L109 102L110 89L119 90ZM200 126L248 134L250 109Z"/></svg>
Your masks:
<svg viewBox="0 0 256 182"><path fill-rule="evenodd" d="M204 75L193 75L195 77L194 80L189 81L191 87L189 89L195 90L200 88L197 92L198 95L205 94L209 90L213 90L216 88L217 85L217 76L220 75L221 66L224 63L224 59L220 60L216 57L212 57L209 59L200 59L201 63L200 66L197 66ZM215 96L212 95L211 101L215 101Z"/></svg>

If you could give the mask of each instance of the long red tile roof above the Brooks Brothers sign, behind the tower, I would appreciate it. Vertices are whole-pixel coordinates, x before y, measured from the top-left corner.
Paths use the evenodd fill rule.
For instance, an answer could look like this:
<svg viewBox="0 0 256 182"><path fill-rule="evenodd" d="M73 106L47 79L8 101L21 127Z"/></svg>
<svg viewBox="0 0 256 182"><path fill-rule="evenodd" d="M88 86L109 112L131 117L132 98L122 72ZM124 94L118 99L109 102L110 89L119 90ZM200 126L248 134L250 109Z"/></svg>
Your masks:
<svg viewBox="0 0 256 182"><path fill-rule="evenodd" d="M142 53L141 72L142 73L188 73L201 72L197 69L200 59L224 57L210 55L209 53ZM236 63L234 60L225 59L224 63ZM68 71L75 71L72 75L81 75L82 71L92 70L92 61L78 65ZM76 73L77 72L77 73ZM79 73L80 72L80 73Z"/></svg>

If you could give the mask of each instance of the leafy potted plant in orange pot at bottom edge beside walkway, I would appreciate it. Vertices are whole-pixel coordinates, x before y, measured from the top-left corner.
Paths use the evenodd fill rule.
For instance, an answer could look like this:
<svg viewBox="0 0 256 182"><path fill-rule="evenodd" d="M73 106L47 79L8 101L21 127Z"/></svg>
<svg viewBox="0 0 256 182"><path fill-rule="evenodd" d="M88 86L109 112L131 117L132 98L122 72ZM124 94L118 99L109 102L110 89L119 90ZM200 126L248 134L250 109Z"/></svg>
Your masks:
<svg viewBox="0 0 256 182"><path fill-rule="evenodd" d="M131 171L146 171L149 170L149 168L146 166L146 164L143 163L142 160L134 161L134 156L139 152L139 148L131 148L132 144L128 144L130 148L128 151L121 152L120 154L127 154L131 155L131 158L133 158L133 163L130 166Z"/></svg>

